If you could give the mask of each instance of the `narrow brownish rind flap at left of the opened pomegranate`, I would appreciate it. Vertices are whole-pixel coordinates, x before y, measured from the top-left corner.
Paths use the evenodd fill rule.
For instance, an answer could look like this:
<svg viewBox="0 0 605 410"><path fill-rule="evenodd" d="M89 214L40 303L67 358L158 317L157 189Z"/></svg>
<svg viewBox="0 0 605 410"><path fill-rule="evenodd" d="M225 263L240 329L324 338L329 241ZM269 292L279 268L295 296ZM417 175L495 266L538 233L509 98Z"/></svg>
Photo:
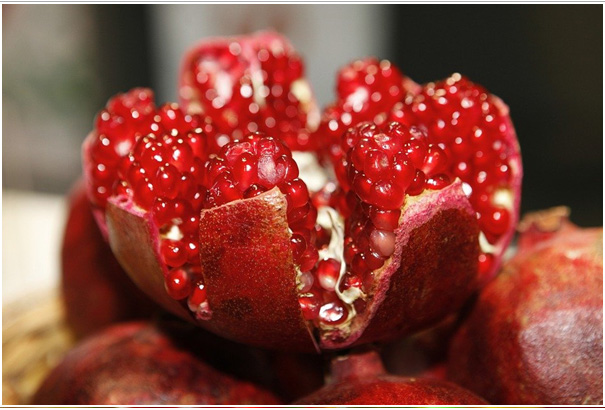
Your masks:
<svg viewBox="0 0 605 410"><path fill-rule="evenodd" d="M159 234L151 214L127 197L115 196L107 202L106 216L111 249L133 282L168 311L193 321L189 310L166 292L166 267L159 262Z"/></svg>

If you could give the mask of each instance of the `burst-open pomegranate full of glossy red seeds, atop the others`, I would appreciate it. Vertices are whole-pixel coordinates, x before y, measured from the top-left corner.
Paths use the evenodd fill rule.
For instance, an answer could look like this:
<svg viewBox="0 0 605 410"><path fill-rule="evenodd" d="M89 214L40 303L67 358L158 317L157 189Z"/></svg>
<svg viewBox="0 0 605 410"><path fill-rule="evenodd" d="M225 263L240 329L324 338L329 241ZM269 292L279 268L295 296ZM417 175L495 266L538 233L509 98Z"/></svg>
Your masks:
<svg viewBox="0 0 605 410"><path fill-rule="evenodd" d="M347 100L342 119L350 126L334 131L338 155L333 135L298 115L280 117L283 127L247 126L273 135L236 136L240 122L225 128L224 111L192 108L227 104L196 100L235 96L221 84L239 84L247 95L245 80L256 77L246 70L259 61L281 62L261 64L258 78L285 75L293 52L268 38L197 48L196 75L184 70L183 81L194 87L195 78L204 93L187 94L189 111L158 109L151 91L135 89L99 114L83 146L84 170L117 259L173 313L252 345L339 349L437 323L491 277L512 235L521 166L506 106L461 76L420 87L389 74L390 65L362 65L339 83L342 95L370 97ZM220 80L226 75L238 80ZM392 101L379 103L386 95ZM299 113L304 104L296 101L286 112ZM371 116L388 106L392 112ZM249 114L237 111L249 104L229 107ZM358 110L374 122L353 115ZM300 178L284 142L290 134L280 130L335 150L337 181L325 195Z"/></svg>

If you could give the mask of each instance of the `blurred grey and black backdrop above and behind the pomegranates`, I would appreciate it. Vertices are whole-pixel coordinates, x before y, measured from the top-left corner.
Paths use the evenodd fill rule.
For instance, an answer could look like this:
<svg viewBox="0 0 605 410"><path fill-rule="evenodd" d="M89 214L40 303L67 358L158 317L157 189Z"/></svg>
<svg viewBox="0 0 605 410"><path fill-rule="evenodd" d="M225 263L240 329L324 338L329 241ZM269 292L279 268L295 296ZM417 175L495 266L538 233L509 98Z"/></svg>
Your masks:
<svg viewBox="0 0 605 410"><path fill-rule="evenodd" d="M511 108L522 210L603 224L602 5L3 5L3 192L64 195L109 97L150 86L174 101L188 47L265 28L291 39L322 105L357 57L420 83L467 75Z"/></svg>

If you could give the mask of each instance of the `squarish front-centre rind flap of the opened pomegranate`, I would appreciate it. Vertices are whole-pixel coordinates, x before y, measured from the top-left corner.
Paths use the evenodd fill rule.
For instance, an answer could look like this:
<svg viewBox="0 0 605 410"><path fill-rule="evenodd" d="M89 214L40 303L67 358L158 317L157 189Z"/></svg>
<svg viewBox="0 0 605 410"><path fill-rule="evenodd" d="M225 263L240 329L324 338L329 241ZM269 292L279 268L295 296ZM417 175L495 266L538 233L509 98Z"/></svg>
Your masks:
<svg viewBox="0 0 605 410"><path fill-rule="evenodd" d="M316 351L298 303L286 209L273 188L202 210L200 257L212 310L202 325L250 345Z"/></svg>

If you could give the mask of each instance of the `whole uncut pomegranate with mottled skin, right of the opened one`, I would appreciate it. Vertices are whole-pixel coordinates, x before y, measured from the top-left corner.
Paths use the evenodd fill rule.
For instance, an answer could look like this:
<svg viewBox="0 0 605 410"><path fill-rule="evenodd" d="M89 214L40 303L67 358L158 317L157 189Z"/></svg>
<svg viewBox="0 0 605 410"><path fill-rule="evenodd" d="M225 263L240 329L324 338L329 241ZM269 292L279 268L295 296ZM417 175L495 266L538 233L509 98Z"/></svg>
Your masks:
<svg viewBox="0 0 605 410"><path fill-rule="evenodd" d="M452 380L497 404L603 403L603 229L530 214L454 337Z"/></svg>

